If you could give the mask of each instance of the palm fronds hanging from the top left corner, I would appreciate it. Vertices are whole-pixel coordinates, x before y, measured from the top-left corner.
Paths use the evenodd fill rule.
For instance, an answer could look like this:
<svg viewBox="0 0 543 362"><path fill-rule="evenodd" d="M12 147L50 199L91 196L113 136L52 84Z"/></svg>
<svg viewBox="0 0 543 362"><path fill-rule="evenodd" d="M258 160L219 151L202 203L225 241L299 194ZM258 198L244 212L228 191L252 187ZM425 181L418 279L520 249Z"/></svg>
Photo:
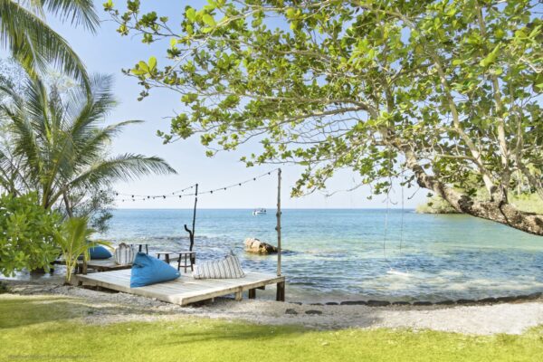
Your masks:
<svg viewBox="0 0 543 362"><path fill-rule="evenodd" d="M44 22L45 12L90 32L95 32L99 24L92 0L0 0L1 46L32 77L52 64L89 86L83 62Z"/></svg>

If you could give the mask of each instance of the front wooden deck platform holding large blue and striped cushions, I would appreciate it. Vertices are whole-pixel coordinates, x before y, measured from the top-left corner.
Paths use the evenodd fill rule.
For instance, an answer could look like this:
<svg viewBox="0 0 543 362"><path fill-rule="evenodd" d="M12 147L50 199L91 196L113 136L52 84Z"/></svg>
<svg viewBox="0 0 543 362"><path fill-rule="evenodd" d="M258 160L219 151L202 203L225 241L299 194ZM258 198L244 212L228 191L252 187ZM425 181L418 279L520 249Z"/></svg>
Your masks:
<svg viewBox="0 0 543 362"><path fill-rule="evenodd" d="M257 289L266 285L277 284L277 300L285 300L285 277L262 272L247 271L240 279L204 279L196 280L182 274L175 281L166 281L146 287L130 288L130 270L95 272L77 275L83 285L97 286L113 291L156 298L157 300L186 306L196 301L211 300L229 294L235 300L242 300L243 291L249 291L249 298L256 296Z"/></svg>

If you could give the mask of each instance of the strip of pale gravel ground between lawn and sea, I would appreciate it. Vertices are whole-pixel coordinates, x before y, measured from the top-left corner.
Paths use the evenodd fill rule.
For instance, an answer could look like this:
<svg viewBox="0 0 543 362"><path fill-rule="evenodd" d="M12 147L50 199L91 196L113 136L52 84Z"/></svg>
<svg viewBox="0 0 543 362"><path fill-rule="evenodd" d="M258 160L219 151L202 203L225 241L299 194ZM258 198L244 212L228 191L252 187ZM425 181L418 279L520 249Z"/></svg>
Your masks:
<svg viewBox="0 0 543 362"><path fill-rule="evenodd" d="M433 329L472 335L520 334L543 324L543 300L477 306L310 305L272 300L216 299L196 307L180 307L126 293L91 291L54 283L5 281L14 294L65 295L79 298L87 323L129 320L172 320L188 315L214 319L242 319L252 323L303 325L314 329L408 328ZM1 298L1 297L0 297Z"/></svg>

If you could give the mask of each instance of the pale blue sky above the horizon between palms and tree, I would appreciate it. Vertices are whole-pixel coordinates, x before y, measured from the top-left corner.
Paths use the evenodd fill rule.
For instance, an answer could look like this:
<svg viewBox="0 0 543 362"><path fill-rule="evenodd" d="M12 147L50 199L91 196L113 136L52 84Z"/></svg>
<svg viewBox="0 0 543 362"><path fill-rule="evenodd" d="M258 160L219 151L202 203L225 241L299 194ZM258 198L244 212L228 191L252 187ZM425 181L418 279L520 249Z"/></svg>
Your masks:
<svg viewBox="0 0 543 362"><path fill-rule="evenodd" d="M113 74L115 78L114 92L119 100L119 106L107 117L107 123L116 123L128 119L141 119L145 123L125 129L115 139L112 145L112 154L138 153L146 156L164 158L170 166L174 167L177 175L147 176L129 183L115 185L119 194L129 195L167 195L186 186L199 184L200 190L214 189L222 186L237 184L246 179L252 179L270 171L275 166L245 167L239 161L243 155L250 154L259 148L258 144L246 145L232 152L221 152L213 158L205 157L205 147L199 143L197 137L180 140L173 144L163 145L162 139L157 137L157 129L169 129L168 117L177 110L182 110L180 97L174 91L151 90L150 96L138 101L141 90L137 81L122 74L121 69L133 67L140 60L148 60L150 56L157 56L158 63L164 58L167 43L157 42L151 45L143 44L138 37L121 37L116 32L117 26L103 11L103 0L96 2L96 8L102 20L100 30L96 34L85 32L82 28L73 28L70 24L61 24L54 17L48 17L48 23L60 33L71 47L80 55L90 73ZM126 4L124 0L115 2ZM176 0L142 0L142 9L152 9L158 15L167 15L176 19L184 12L190 3L193 7L205 5L205 1L176 1ZM349 170L338 172L329 182L328 193L316 192L300 198L291 198L290 190L296 182L302 167L285 165L282 169L281 204L285 208L382 208L386 207L383 195L371 195L369 188L360 187L356 191L345 192L357 185L357 175ZM396 187L396 195L391 196L390 207L399 207L400 190ZM424 190L419 190L412 198L414 189L405 190L405 207L414 207L424 202ZM129 199L130 197L128 197ZM119 202L119 208L188 208L193 200L186 197L179 199L169 198L162 200ZM262 177L256 182L248 183L243 187L236 187L227 192L202 195L198 200L202 208L272 208L277 199L276 176ZM396 205L393 205L396 203Z"/></svg>

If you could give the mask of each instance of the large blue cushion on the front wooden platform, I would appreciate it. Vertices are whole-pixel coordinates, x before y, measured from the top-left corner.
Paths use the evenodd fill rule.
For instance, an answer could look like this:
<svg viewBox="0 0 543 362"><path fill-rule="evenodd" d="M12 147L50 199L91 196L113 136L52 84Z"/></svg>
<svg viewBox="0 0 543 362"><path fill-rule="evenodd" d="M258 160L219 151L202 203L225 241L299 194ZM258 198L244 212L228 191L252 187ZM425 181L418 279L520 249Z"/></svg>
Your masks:
<svg viewBox="0 0 543 362"><path fill-rule="evenodd" d="M162 281L173 281L181 274L171 265L149 256L145 252L138 252L132 263L130 273L130 288L144 287Z"/></svg>

